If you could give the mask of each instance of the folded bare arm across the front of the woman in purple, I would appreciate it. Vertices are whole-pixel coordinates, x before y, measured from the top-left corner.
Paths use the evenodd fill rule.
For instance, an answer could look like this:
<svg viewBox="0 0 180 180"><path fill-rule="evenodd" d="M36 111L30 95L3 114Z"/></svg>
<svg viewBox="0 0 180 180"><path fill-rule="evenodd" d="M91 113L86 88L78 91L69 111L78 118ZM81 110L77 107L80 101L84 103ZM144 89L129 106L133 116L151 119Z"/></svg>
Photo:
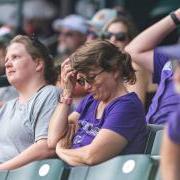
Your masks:
<svg viewBox="0 0 180 180"><path fill-rule="evenodd" d="M77 149L62 149L57 144L56 153L72 166L94 165L118 155L127 143L118 133L101 129L91 144Z"/></svg>

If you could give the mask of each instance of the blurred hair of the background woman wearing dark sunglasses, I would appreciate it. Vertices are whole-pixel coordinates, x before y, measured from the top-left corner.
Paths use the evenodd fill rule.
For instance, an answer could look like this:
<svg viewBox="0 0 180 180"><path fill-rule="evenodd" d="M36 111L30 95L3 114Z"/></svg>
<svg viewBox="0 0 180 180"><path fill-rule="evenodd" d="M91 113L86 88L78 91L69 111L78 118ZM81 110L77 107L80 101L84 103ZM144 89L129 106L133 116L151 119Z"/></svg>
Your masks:
<svg viewBox="0 0 180 180"><path fill-rule="evenodd" d="M132 40L138 33L138 30L130 18L126 16L118 16L112 19L105 27L103 28L103 32L108 31L108 28L114 23L122 23L127 27L127 35L129 40Z"/></svg>

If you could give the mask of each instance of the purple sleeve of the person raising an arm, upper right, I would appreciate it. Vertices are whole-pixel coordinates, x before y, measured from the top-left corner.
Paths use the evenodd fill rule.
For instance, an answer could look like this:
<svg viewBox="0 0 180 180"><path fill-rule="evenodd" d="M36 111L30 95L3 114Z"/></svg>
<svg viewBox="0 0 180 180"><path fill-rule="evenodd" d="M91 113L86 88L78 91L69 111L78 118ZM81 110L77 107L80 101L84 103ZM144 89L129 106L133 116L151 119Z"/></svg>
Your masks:
<svg viewBox="0 0 180 180"><path fill-rule="evenodd" d="M153 73L153 82L159 84L161 80L161 72L166 64L169 61L169 57L156 48L154 50L154 73Z"/></svg>

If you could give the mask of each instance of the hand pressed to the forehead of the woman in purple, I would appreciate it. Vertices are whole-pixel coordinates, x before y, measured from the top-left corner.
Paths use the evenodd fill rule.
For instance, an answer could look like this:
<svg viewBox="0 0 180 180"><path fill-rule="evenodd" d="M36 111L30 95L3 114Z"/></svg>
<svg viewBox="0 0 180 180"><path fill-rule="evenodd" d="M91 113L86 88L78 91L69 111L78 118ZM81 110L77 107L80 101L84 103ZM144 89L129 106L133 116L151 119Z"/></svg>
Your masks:
<svg viewBox="0 0 180 180"><path fill-rule="evenodd" d="M66 59L61 64L61 83L63 87L63 96L71 97L76 85L77 72L72 69L70 59Z"/></svg>

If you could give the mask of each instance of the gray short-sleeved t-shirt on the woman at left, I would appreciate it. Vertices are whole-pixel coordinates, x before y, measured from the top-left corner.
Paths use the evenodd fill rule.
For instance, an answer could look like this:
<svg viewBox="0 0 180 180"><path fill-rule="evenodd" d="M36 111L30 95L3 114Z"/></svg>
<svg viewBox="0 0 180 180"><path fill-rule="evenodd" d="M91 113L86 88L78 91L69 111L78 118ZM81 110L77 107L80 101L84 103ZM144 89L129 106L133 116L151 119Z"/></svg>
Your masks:
<svg viewBox="0 0 180 180"><path fill-rule="evenodd" d="M14 158L39 139L47 138L59 94L58 88L48 85L25 104L16 98L0 108L0 163Z"/></svg>

